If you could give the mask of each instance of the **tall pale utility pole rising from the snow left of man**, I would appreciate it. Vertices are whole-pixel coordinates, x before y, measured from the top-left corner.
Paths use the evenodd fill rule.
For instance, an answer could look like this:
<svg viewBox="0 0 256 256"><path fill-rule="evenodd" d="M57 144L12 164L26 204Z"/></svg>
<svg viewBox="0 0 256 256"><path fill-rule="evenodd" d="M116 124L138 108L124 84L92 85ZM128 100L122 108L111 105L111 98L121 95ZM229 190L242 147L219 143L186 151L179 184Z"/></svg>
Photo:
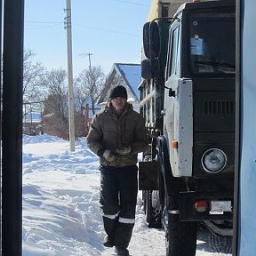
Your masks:
<svg viewBox="0 0 256 256"><path fill-rule="evenodd" d="M73 65L72 65L72 35L71 35L71 3L67 0L67 42L68 42L68 121L70 151L75 151L75 123L74 123L74 92L73 92Z"/></svg>

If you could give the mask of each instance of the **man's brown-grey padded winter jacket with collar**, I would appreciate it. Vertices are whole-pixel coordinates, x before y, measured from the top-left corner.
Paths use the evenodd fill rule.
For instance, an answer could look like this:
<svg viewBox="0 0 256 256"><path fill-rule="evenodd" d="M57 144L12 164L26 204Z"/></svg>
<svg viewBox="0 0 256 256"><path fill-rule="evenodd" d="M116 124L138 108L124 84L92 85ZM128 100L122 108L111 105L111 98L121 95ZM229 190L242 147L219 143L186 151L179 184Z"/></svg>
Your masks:
<svg viewBox="0 0 256 256"><path fill-rule="evenodd" d="M87 136L88 147L100 156L100 164L122 167L137 164L138 153L148 147L148 136L144 118L127 103L124 112L117 117L111 103L92 118L92 124ZM108 163L99 152L105 149L116 152L122 146L131 146L129 154L115 154L115 160Z"/></svg>

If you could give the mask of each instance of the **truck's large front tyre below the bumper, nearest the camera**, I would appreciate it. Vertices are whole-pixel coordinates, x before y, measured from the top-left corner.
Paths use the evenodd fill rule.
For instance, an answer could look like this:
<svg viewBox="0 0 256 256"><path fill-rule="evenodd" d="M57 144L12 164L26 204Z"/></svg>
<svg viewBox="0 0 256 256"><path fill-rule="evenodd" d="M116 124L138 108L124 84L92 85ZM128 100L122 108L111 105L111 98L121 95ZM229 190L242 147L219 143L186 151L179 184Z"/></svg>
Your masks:
<svg viewBox="0 0 256 256"><path fill-rule="evenodd" d="M164 200L165 201L165 200ZM171 214L164 206L166 256L196 255L196 222L180 221L179 214Z"/></svg>

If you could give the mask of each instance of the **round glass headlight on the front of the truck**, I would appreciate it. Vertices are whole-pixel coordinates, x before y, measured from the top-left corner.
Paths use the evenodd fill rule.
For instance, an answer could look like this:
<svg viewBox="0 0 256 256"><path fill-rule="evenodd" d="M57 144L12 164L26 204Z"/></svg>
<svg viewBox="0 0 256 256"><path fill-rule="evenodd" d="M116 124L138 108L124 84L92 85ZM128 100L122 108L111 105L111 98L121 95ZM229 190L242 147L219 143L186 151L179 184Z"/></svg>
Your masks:
<svg viewBox="0 0 256 256"><path fill-rule="evenodd" d="M211 148L204 152L201 163L206 172L220 172L227 164L227 156L219 148Z"/></svg>

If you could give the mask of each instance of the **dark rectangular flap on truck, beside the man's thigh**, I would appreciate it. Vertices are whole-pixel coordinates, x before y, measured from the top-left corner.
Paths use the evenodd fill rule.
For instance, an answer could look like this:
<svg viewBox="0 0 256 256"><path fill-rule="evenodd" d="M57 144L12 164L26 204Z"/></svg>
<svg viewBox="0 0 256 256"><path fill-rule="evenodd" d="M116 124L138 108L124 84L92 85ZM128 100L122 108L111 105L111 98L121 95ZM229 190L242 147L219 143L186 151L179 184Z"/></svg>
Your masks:
<svg viewBox="0 0 256 256"><path fill-rule="evenodd" d="M156 161L139 163L139 189L158 189L158 164Z"/></svg>

